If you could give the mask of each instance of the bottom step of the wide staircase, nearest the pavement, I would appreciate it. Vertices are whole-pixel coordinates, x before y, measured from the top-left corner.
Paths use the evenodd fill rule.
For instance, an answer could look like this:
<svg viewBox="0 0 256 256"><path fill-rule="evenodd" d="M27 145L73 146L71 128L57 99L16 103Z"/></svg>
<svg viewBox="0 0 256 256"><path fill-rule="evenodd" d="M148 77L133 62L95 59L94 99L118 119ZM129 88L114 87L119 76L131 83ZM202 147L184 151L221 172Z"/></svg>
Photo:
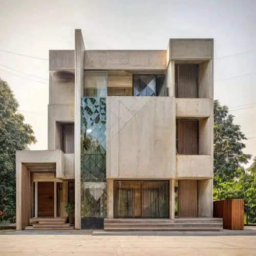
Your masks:
<svg viewBox="0 0 256 256"><path fill-rule="evenodd" d="M222 228L217 227L124 227L124 228L104 228L104 231L220 231Z"/></svg>

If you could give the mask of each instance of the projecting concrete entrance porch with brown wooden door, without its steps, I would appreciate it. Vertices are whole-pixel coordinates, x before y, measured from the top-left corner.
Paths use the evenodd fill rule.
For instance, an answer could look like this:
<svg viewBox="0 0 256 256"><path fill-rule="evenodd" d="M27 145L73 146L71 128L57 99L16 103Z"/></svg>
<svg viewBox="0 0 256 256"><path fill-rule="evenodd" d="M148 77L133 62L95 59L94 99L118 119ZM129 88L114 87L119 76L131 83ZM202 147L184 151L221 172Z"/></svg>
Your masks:
<svg viewBox="0 0 256 256"><path fill-rule="evenodd" d="M56 178L63 173L62 155L60 150L16 152L17 230L29 225L32 217L57 217L58 182L65 183L61 186L61 207L67 202L68 181Z"/></svg>

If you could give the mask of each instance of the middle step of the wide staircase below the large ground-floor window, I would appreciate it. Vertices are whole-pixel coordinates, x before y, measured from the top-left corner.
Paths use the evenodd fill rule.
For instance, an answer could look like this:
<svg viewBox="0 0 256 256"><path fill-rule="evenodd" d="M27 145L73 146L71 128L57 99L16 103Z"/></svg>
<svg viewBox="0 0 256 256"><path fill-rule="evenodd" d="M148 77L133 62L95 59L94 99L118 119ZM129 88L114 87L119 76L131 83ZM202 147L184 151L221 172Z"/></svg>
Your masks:
<svg viewBox="0 0 256 256"><path fill-rule="evenodd" d="M168 224L143 224L143 223L105 223L104 229L106 228L143 228L143 227L153 227L153 228L162 228L162 227L168 227L168 228L193 228L193 227L209 227L209 228L223 228L222 223L168 223Z"/></svg>

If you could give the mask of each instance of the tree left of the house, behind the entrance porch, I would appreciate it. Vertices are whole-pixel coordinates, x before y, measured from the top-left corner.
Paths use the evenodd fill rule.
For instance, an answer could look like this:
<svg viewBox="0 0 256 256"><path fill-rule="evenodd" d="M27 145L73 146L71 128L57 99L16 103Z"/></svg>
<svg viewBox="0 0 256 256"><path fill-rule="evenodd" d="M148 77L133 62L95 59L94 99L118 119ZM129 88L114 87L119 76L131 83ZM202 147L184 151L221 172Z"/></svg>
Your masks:
<svg viewBox="0 0 256 256"><path fill-rule="evenodd" d="M17 112L18 102L9 84L0 79L0 220L16 218L16 150L28 150L36 139L32 127Z"/></svg>

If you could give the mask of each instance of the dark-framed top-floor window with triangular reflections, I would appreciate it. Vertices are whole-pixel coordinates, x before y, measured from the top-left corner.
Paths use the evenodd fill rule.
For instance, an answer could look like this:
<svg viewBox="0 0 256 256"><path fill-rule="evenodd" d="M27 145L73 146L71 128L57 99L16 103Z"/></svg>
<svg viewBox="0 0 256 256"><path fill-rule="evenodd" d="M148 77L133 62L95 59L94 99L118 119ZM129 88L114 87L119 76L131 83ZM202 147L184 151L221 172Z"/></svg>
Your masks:
<svg viewBox="0 0 256 256"><path fill-rule="evenodd" d="M165 75L133 75L133 96L165 96Z"/></svg>

